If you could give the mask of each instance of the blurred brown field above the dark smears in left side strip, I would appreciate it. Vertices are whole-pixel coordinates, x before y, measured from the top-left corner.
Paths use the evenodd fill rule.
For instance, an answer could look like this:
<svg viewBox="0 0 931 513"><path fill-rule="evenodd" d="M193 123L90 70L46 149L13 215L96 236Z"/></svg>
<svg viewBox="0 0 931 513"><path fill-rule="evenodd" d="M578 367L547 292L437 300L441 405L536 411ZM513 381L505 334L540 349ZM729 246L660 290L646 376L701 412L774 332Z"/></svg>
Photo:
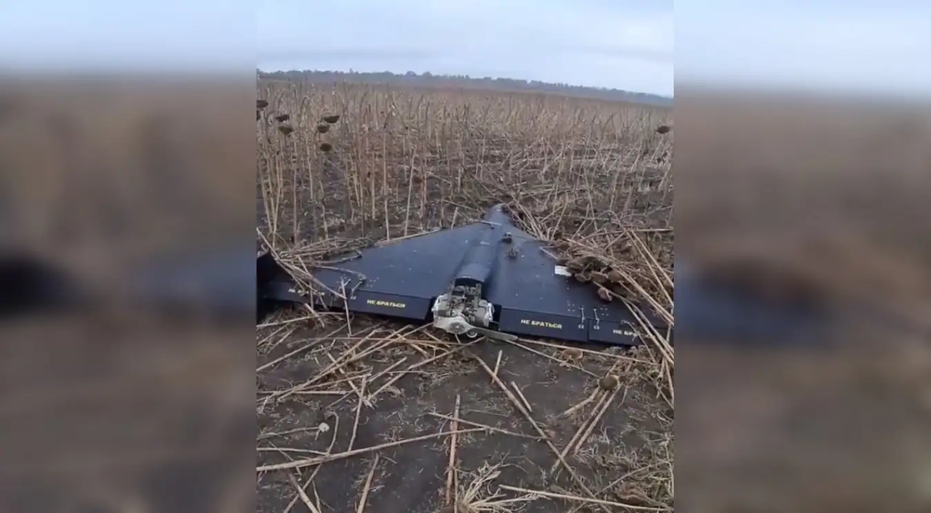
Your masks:
<svg viewBox="0 0 931 513"><path fill-rule="evenodd" d="M5 238L52 253L96 245L118 254L241 227L237 206L249 189L236 170L254 143L234 129L248 107L230 105L243 90L220 78L8 79L0 97Z"/></svg>

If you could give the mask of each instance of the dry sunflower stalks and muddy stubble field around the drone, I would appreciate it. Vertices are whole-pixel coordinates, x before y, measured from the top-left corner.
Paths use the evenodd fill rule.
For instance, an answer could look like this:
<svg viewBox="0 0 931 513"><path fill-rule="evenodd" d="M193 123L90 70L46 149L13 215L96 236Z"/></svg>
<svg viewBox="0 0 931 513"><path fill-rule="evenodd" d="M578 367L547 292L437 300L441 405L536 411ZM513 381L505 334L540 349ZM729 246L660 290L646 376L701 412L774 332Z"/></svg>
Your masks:
<svg viewBox="0 0 931 513"><path fill-rule="evenodd" d="M259 97L259 239L298 277L506 203L592 294L671 322L671 112L282 82ZM674 356L647 338L460 344L282 312L258 336L259 510L671 510Z"/></svg>

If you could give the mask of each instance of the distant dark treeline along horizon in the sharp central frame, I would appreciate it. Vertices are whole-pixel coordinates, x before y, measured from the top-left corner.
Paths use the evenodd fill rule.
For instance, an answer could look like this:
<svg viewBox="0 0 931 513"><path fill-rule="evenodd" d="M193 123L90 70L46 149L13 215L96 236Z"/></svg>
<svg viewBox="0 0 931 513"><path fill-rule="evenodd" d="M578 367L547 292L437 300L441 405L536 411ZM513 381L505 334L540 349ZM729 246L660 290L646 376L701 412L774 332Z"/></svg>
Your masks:
<svg viewBox="0 0 931 513"><path fill-rule="evenodd" d="M350 82L354 84L390 84L420 85L429 87L466 87L473 89L491 89L497 91L554 93L575 98L606 99L609 101L627 101L650 105L671 106L672 99L647 93L632 93L606 87L586 87L582 85L551 84L538 80L517 80L513 78L492 78L486 76L475 78L468 75L437 75L430 72L417 74L406 72L321 72L317 70L290 72L258 71L259 78L273 80L304 81L317 84Z"/></svg>

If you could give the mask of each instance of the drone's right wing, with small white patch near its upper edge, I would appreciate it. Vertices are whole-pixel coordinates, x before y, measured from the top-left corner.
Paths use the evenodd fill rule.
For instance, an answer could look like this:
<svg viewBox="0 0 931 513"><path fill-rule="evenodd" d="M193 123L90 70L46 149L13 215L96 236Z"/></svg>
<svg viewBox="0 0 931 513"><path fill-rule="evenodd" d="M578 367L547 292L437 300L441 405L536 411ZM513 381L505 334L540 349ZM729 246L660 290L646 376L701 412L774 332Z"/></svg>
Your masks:
<svg viewBox="0 0 931 513"><path fill-rule="evenodd" d="M508 227L510 248L497 252L488 300L500 309L498 329L518 335L578 342L638 345L639 323L623 303L607 303L590 283L578 283L561 267L546 243ZM660 333L665 323L641 309Z"/></svg>

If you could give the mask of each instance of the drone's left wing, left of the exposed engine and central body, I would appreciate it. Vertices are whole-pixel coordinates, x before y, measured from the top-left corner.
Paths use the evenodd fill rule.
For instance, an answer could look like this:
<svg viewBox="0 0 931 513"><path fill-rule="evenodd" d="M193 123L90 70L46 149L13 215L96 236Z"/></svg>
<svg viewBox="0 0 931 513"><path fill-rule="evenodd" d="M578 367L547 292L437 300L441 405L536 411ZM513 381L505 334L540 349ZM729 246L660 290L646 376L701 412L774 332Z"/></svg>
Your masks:
<svg viewBox="0 0 931 513"><path fill-rule="evenodd" d="M295 294L295 284L281 270L277 278L268 280L271 285L265 287L264 296L425 321L434 299L452 283L466 249L491 229L478 222L359 250L312 270L316 283L305 296Z"/></svg>

